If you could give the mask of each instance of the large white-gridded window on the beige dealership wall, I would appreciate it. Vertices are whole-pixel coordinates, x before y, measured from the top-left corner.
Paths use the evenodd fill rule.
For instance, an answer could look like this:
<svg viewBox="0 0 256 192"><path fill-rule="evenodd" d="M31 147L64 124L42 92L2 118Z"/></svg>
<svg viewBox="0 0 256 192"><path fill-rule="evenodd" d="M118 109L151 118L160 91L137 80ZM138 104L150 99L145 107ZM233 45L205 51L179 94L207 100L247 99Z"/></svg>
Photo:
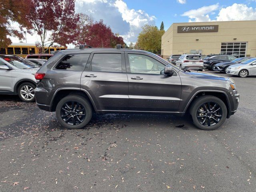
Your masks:
<svg viewBox="0 0 256 192"><path fill-rule="evenodd" d="M237 58L246 56L246 42L223 42L221 43L221 54L232 55Z"/></svg>

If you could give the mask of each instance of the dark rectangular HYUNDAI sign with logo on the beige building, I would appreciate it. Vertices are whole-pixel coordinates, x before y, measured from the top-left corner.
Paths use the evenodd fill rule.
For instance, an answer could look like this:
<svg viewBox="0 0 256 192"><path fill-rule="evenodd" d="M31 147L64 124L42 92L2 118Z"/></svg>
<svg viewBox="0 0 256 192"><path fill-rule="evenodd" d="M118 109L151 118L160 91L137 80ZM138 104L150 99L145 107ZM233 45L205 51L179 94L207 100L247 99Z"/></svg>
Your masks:
<svg viewBox="0 0 256 192"><path fill-rule="evenodd" d="M218 32L218 25L178 26L178 33Z"/></svg>

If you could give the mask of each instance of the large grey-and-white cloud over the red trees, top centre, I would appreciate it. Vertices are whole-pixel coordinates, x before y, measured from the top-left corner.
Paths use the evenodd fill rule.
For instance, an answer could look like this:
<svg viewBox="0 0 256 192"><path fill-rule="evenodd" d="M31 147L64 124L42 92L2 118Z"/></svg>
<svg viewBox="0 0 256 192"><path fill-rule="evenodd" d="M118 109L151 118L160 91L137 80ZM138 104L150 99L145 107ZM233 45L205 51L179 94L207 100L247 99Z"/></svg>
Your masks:
<svg viewBox="0 0 256 192"><path fill-rule="evenodd" d="M145 24L155 25L155 16L149 16L144 10L128 8L122 0L79 0L76 12L91 15L95 20L103 19L114 33L119 33L126 43L136 42L138 34Z"/></svg>

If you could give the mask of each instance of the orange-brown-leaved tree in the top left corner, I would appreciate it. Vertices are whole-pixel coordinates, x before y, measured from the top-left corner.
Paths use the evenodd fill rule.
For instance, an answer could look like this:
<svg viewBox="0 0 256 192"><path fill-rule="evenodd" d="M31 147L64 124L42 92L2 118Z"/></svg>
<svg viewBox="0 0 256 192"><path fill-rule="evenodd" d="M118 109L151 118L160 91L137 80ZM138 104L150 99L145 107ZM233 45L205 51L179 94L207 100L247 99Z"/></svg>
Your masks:
<svg viewBox="0 0 256 192"><path fill-rule="evenodd" d="M0 47L6 48L12 43L8 36L24 39L22 28L30 28L26 14L30 10L30 0L0 0ZM11 22L17 22L18 28Z"/></svg>

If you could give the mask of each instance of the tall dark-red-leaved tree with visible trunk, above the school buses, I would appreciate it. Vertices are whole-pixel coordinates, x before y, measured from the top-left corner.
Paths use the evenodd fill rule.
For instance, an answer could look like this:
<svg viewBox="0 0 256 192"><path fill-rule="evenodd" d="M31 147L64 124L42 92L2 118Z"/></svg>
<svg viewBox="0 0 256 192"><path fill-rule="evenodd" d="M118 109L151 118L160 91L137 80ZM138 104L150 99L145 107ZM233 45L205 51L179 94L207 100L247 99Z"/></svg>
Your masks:
<svg viewBox="0 0 256 192"><path fill-rule="evenodd" d="M32 30L28 32L32 34L34 31L40 36L42 52L54 43L66 46L77 35L79 16L75 14L75 0L31 0L26 18L32 24Z"/></svg>

